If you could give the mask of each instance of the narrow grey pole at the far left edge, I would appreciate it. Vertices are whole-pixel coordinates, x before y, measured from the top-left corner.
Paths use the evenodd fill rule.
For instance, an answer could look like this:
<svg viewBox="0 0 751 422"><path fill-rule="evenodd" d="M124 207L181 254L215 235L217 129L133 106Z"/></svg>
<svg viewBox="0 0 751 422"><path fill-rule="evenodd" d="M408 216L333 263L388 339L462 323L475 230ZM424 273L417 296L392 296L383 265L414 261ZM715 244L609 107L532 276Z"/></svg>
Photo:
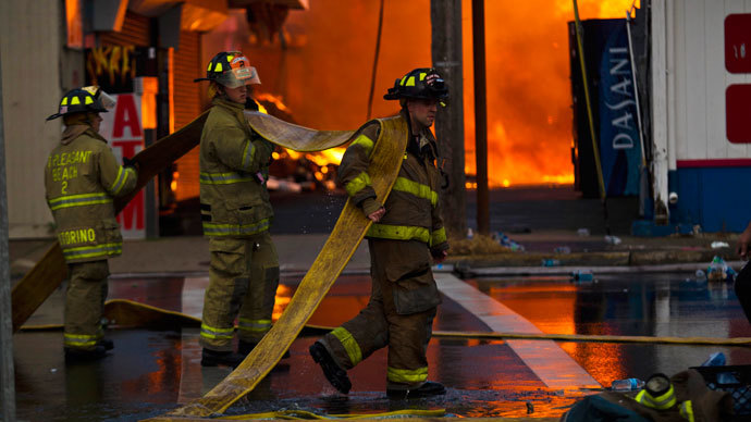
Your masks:
<svg viewBox="0 0 751 422"><path fill-rule="evenodd" d="M0 58L0 62L1 62ZM8 185L5 183L5 129L2 122L2 66L0 66L0 415L15 421L15 373L13 371L13 327L11 271L8 253Z"/></svg>

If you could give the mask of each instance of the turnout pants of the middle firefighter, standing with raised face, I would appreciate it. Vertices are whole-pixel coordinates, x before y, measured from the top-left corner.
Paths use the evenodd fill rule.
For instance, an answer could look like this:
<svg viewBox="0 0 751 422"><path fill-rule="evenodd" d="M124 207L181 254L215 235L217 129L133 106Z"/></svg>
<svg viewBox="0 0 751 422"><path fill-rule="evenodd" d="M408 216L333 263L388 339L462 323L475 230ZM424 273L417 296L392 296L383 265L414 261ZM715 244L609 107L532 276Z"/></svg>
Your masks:
<svg viewBox="0 0 751 422"><path fill-rule="evenodd" d="M200 345L231 351L234 321L238 337L258 343L271 328L279 286L279 259L269 232L243 238L209 238L211 264L204 296Z"/></svg>

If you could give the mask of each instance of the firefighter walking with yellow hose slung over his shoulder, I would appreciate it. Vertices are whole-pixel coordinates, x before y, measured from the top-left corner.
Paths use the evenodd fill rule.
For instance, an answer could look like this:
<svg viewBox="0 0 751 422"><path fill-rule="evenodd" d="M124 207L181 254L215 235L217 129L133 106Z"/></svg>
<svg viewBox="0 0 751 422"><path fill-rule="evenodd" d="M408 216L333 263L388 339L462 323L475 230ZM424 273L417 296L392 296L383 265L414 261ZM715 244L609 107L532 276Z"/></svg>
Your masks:
<svg viewBox="0 0 751 422"><path fill-rule="evenodd" d="M329 382L347 394L346 371L389 346L386 395L413 398L441 395L443 385L428 381L426 349L441 298L431 271L446 257L448 243L441 219L435 167L436 140L430 132L439 104L448 98L444 80L432 69L416 69L397 79L383 97L399 100L408 144L387 199L371 187L368 165L379 139L379 124L366 123L347 148L338 182L373 224L366 234L370 249L371 295L365 309L310 346ZM385 202L384 202L385 199Z"/></svg>

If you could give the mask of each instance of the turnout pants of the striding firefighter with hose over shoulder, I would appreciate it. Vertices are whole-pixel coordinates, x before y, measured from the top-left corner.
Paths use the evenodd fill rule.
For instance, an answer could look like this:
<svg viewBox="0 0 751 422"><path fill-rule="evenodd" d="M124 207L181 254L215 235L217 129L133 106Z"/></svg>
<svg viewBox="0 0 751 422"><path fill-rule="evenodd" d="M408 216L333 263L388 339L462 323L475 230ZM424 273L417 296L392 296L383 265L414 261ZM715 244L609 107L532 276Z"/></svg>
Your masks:
<svg viewBox="0 0 751 422"><path fill-rule="evenodd" d="M345 370L389 346L386 388L417 388L428 378L426 351L441 301L428 246L385 239L369 239L368 245L370 301L320 342Z"/></svg>

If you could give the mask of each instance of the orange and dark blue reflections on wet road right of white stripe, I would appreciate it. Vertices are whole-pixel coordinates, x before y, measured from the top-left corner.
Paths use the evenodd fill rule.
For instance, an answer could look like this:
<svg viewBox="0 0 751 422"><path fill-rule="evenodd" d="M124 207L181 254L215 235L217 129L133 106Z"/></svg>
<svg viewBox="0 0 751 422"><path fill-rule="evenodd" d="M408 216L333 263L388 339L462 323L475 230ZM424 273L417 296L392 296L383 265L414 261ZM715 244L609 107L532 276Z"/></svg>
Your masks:
<svg viewBox="0 0 751 422"><path fill-rule="evenodd" d="M666 274L600 276L574 284L567 278L475 280L490 297L545 333L677 337L749 337L732 285ZM723 351L728 364L748 364L746 347L561 343L595 380L610 385L625 377L647 378L700 365Z"/></svg>

